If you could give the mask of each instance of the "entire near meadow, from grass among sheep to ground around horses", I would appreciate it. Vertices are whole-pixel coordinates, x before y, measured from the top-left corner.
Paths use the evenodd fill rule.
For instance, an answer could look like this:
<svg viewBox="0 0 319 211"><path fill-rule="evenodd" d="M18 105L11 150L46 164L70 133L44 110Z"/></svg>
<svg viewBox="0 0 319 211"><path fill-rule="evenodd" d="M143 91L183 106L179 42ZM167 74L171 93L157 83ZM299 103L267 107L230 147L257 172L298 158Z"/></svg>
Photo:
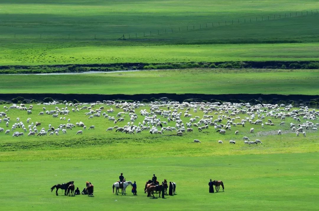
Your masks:
<svg viewBox="0 0 319 211"><path fill-rule="evenodd" d="M64 107L61 104L56 106ZM110 108L104 106L105 109ZM39 116L42 107L34 105L30 115L26 111L10 109L6 112L11 117L10 125L16 122L17 117L23 122L29 117L31 122L41 122L41 127L46 129L49 123L54 127L66 123L51 115ZM55 109L55 106L45 107L47 110ZM149 110L149 107L135 110L140 109ZM113 116L119 111L122 109L115 109ZM183 112L182 109L180 111ZM203 132L194 128L194 132L179 137L175 132L162 135L151 135L148 131L130 135L107 132L106 128L115 125L112 121L103 117L88 119L85 112L80 110L66 116L71 123L83 121L87 126L95 125L95 130L86 129L83 135L75 135L82 128L45 137L12 137L12 132L10 135L0 133L0 167L6 169L0 172L0 176L6 178L5 186L9 187L8 193L3 194L3 208L12 209L14 204L15 210L60 210L65 208L65 204L80 208L82 204L90 203L91 208L99 210L107 207L148 210L163 206L172 207L172 210L203 210L209 207L316 210L315 201L319 199L318 185L314 182L319 173L316 168L317 132L306 130L307 137L296 137L289 127L290 122L297 123L292 119L286 119L282 126L279 119L273 118L275 126L238 125L231 131L227 130L226 135L216 133L212 127ZM189 113L201 116L202 112L193 113L191 110ZM217 115L212 115L213 119L217 118ZM239 116L244 118L247 115ZM126 124L128 116L124 119L124 123L116 125ZM138 116L136 122L142 119ZM186 122L189 118L181 119ZM318 123L317 120L313 122ZM170 126L174 124L168 123ZM0 127L6 129L3 122ZM251 127L255 128L254 133L249 133ZM279 129L283 131L281 136L277 135ZM239 130L240 134L234 135L235 130ZM263 144L244 145L243 136L251 140L260 139ZM193 143L195 138L202 143ZM223 140L224 144L218 144L217 140ZM236 140L237 143L228 144L228 140ZM112 193L111 185L121 172L127 180L137 182L137 196L133 197L130 188L127 196ZM147 198L143 184L153 173L159 181L176 182L177 194L166 196L165 202L161 198ZM221 179L225 192L208 193L209 179ZM69 197L61 191L56 196L50 192L53 185L69 180L74 180L80 190L85 181L91 181L95 197ZM312 197L306 193L311 193Z"/></svg>

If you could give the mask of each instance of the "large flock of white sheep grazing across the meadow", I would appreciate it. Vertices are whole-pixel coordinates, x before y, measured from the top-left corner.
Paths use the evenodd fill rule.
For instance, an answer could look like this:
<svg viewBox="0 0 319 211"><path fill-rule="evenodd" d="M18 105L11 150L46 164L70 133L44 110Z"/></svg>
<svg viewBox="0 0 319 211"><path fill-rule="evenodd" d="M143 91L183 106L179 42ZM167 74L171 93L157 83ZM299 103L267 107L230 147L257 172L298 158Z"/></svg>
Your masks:
<svg viewBox="0 0 319 211"><path fill-rule="evenodd" d="M3 111L0 109L0 135L4 133L15 138L40 138L70 133L79 136L85 133L94 134L96 128L103 127L90 123L92 119L98 118L100 122L112 125L104 128L104 133L135 136L142 133L153 136L169 134L177 137L188 137L188 134L192 134L189 141L193 143L216 141L219 144L229 142L258 145L267 143L259 139L263 139L263 131L271 132L274 126L280 130L274 131L272 135L284 136L287 133L295 133L300 137L306 137L306 131L316 132L319 126L318 110L307 106L296 108L284 104L174 101L142 103L108 100L94 103L54 101L39 103L36 107L38 110L41 108L41 111L34 113L33 105L3 106ZM12 116L12 110L19 111L19 115ZM81 115L81 121L72 121L76 114ZM51 116L51 122L47 125L41 124L45 115ZM286 129L288 126L289 130ZM234 130L236 128L238 130ZM249 136L258 132L261 133L259 139L250 140L252 138ZM222 140L204 140L201 133L218 133L218 139ZM223 139L226 134L234 135L233 140Z"/></svg>

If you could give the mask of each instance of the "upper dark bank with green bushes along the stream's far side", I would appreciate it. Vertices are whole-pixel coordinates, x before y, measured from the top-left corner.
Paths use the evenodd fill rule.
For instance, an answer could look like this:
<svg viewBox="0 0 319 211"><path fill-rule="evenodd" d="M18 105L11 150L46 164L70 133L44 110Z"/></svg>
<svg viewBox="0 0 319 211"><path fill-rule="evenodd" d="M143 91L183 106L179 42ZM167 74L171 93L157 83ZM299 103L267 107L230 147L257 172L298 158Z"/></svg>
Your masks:
<svg viewBox="0 0 319 211"><path fill-rule="evenodd" d="M190 69L190 68L264 68L264 69L319 69L317 61L226 61L226 62L167 62L68 64L38 66L0 66L0 74L78 73L90 71Z"/></svg>

